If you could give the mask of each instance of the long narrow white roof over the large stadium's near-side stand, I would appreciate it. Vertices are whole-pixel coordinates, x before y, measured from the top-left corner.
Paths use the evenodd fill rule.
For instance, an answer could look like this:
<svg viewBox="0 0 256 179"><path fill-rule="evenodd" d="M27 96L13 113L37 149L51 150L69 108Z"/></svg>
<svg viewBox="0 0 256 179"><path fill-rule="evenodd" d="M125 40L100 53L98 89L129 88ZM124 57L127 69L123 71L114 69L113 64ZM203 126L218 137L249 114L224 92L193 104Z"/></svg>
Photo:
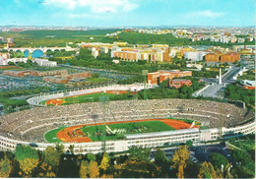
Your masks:
<svg viewBox="0 0 256 179"><path fill-rule="evenodd" d="M199 129L192 128L192 129L181 129L176 131L163 131L163 132L155 132L155 133L124 135L124 137L127 140L132 140L132 139L140 139L140 138L154 138L154 137L161 137L161 136L172 136L172 135L180 135L184 133L197 133L197 132L199 132Z"/></svg>

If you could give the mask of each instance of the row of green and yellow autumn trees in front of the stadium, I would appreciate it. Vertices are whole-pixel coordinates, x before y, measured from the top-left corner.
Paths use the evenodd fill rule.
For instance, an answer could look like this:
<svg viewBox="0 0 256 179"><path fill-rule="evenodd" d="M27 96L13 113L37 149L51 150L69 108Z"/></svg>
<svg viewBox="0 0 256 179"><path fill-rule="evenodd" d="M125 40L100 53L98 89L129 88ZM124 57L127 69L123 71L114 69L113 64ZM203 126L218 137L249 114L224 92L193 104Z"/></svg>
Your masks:
<svg viewBox="0 0 256 179"><path fill-rule="evenodd" d="M248 137L251 138L252 136ZM247 139L248 140L248 139ZM74 154L74 146L62 145L36 150L17 146L14 152L0 152L0 177L72 177L72 178L251 178L254 159L246 150L233 149L233 163L221 153L212 152L210 160L193 162L191 146L181 145L172 158L162 149L132 147L125 153ZM255 157L255 156L254 156ZM151 159L154 158L154 159Z"/></svg>

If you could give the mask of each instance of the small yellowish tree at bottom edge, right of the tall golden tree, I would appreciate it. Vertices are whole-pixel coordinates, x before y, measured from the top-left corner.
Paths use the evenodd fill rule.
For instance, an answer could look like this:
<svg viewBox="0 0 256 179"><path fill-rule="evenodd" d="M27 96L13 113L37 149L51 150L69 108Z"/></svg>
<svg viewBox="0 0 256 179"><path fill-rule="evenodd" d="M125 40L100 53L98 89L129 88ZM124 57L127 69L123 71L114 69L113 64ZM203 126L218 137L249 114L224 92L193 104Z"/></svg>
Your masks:
<svg viewBox="0 0 256 179"><path fill-rule="evenodd" d="M199 178L220 178L211 162L203 162L200 165Z"/></svg>

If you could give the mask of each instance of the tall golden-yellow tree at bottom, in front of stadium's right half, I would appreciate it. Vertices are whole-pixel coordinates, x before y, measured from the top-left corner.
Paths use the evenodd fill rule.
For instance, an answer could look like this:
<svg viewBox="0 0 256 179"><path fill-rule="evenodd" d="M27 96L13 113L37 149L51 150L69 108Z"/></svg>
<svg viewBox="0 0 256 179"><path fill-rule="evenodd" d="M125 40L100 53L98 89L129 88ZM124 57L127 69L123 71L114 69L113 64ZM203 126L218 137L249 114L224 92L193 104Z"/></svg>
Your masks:
<svg viewBox="0 0 256 179"><path fill-rule="evenodd" d="M179 149L174 150L172 162L173 168L178 168L177 177L184 178L184 168L186 167L186 160L189 158L189 151L186 146L180 146Z"/></svg>

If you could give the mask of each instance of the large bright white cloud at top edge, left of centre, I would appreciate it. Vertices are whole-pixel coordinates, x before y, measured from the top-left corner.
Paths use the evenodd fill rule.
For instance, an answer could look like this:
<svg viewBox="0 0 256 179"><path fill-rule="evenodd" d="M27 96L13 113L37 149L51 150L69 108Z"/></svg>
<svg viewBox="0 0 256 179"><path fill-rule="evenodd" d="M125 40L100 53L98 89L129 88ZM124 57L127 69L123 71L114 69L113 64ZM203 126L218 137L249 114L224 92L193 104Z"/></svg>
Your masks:
<svg viewBox="0 0 256 179"><path fill-rule="evenodd" d="M138 4L131 0L47 0L45 3L45 6L52 5L69 10L88 7L92 13L129 12L138 7Z"/></svg>

